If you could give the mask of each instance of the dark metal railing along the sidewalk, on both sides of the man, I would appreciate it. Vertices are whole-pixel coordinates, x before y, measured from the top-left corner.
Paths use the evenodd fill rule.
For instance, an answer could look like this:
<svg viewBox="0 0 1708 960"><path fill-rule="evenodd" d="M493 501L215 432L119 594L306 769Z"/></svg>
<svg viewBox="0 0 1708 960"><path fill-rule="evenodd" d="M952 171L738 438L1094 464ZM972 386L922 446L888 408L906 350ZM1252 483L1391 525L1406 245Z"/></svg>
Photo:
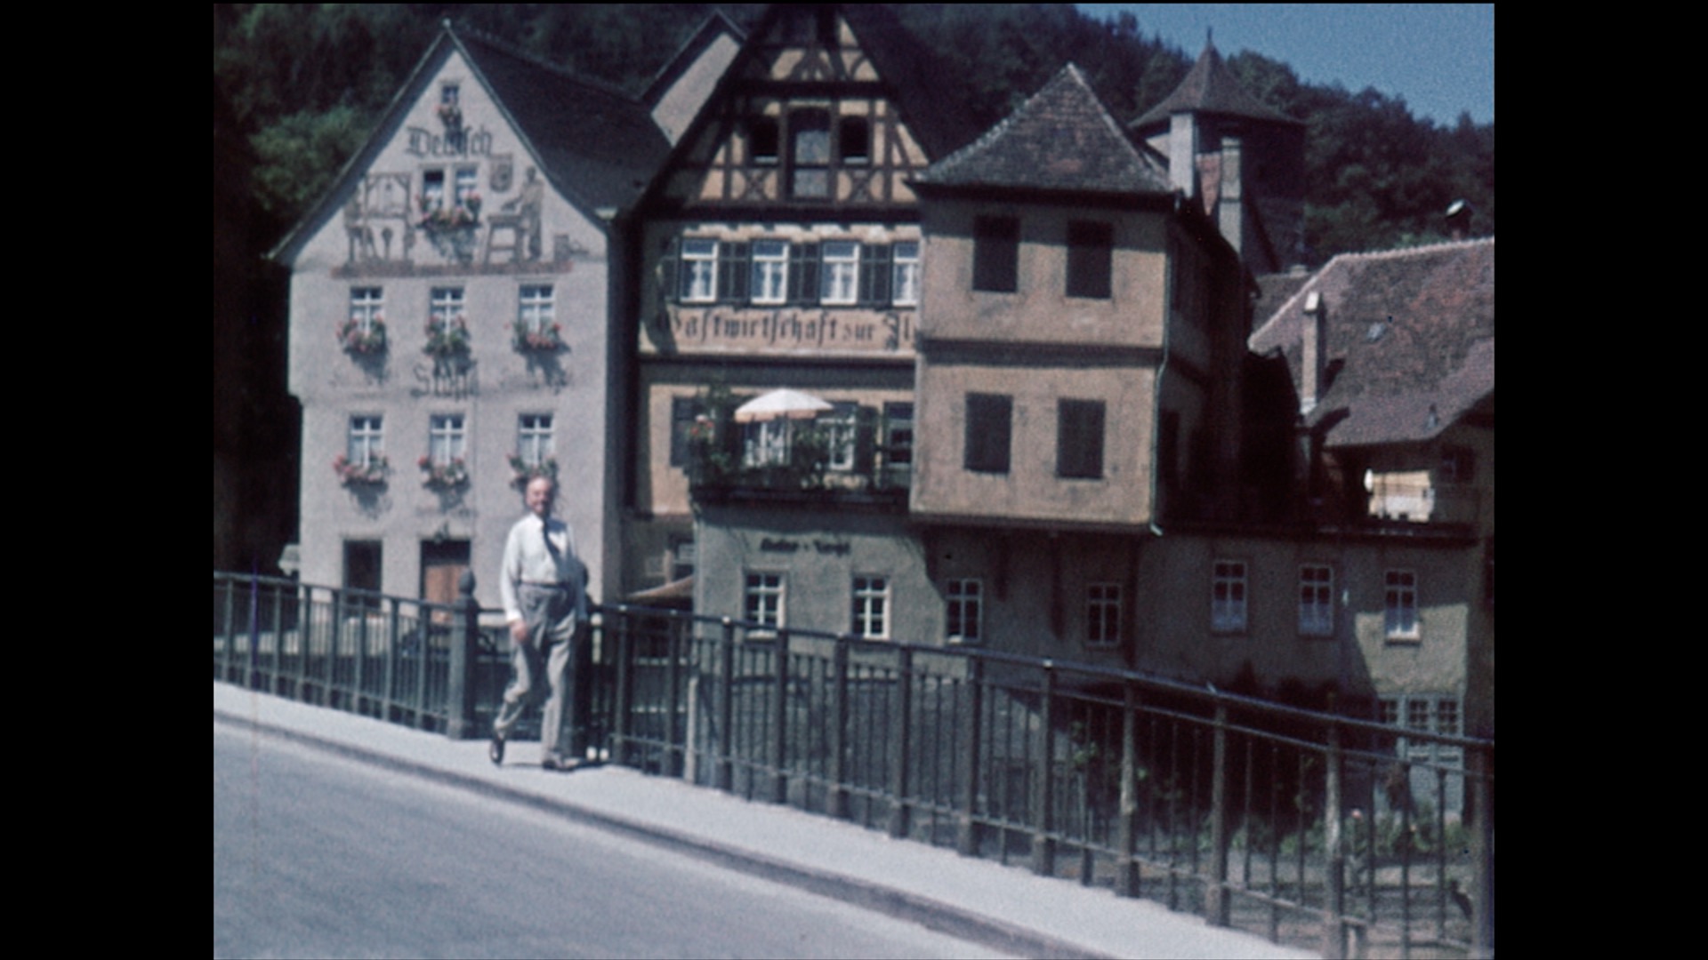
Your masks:
<svg viewBox="0 0 1708 960"><path fill-rule="evenodd" d="M507 676L478 613L466 594L436 606L215 574L215 678L478 736ZM613 764L1329 957L1493 953L1493 741L622 605L594 610L589 649L572 723Z"/></svg>

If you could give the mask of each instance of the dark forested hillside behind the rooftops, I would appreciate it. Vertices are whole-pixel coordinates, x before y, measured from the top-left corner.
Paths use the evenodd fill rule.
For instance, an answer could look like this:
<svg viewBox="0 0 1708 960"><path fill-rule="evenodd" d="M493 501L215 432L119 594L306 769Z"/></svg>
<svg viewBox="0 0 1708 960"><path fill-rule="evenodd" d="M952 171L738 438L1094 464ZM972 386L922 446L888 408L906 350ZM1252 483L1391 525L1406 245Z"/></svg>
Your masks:
<svg viewBox="0 0 1708 960"><path fill-rule="evenodd" d="M752 24L762 3L722 5ZM214 7L215 109L224 102L254 157L263 231L275 236L328 186L427 50L439 22L492 34L543 60L639 92L709 14L702 3L403 3ZM1115 116L1134 118L1185 75L1194 51L1146 36L1131 15L1100 22L1071 5L898 5L941 51L945 106L982 128L1062 63L1091 77ZM1404 101L1301 82L1259 53L1228 56L1254 94L1307 123L1310 261L1348 249L1443 239L1442 212L1476 210L1494 232L1494 125L1414 118Z"/></svg>

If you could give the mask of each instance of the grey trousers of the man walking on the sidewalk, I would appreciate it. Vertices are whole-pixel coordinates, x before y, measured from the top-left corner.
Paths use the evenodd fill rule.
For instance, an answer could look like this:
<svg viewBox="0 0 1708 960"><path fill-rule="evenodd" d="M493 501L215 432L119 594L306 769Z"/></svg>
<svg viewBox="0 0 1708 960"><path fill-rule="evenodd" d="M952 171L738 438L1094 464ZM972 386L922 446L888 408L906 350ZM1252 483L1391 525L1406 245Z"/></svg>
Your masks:
<svg viewBox="0 0 1708 960"><path fill-rule="evenodd" d="M574 596L564 588L521 584L516 600L523 608L528 639L511 639L511 683L504 688L504 705L492 723L492 733L507 736L528 702L545 692L540 752L543 757L564 757L564 717L576 716L576 644L581 639Z"/></svg>

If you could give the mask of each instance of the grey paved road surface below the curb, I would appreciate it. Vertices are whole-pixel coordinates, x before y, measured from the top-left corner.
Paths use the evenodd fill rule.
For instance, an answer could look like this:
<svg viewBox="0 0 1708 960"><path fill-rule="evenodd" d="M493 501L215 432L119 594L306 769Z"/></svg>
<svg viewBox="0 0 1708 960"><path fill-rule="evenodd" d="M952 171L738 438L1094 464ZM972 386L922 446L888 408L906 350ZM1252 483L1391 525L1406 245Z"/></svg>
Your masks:
<svg viewBox="0 0 1708 960"><path fill-rule="evenodd" d="M1003 957L214 724L215 957Z"/></svg>

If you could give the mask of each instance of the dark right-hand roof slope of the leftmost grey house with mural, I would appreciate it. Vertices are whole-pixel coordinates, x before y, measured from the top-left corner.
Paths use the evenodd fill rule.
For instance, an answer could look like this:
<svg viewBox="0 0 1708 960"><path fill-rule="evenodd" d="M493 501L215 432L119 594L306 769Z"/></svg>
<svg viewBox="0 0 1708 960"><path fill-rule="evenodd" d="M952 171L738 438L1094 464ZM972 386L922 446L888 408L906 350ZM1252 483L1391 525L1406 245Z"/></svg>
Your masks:
<svg viewBox="0 0 1708 960"><path fill-rule="evenodd" d="M458 43L499 104L538 150L565 196L627 208L670 152L651 111L623 91L576 77L492 38L458 31Z"/></svg>

